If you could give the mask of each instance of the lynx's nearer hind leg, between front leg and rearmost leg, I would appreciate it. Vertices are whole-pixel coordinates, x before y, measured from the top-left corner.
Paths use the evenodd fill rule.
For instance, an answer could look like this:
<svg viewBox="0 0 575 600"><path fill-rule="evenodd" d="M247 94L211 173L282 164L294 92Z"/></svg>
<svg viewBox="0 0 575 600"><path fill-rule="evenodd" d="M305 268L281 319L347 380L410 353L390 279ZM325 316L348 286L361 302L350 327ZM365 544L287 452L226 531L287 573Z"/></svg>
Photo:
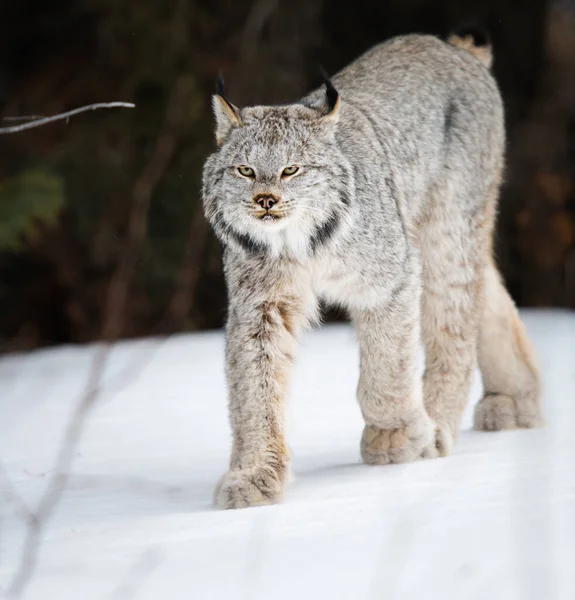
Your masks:
<svg viewBox="0 0 575 600"><path fill-rule="evenodd" d="M467 184L436 191L435 210L420 229L423 260L423 399L443 432L449 453L461 426L473 373L483 304L483 270L489 251L497 195L495 181L482 200ZM458 193L455 193L458 191ZM477 206L474 218L462 201Z"/></svg>

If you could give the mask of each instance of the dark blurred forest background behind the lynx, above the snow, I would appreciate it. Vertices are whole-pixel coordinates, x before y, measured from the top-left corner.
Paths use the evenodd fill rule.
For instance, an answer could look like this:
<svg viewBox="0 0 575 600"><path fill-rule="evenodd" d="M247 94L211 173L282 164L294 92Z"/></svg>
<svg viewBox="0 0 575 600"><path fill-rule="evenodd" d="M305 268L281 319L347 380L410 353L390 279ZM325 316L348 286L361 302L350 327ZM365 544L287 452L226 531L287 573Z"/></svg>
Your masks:
<svg viewBox="0 0 575 600"><path fill-rule="evenodd" d="M498 261L521 306L575 308L575 12L545 0L2 0L0 115L132 101L0 136L2 350L218 327L203 219L210 94L296 100L373 44L483 23L507 114ZM4 121L0 125L12 125ZM124 273L124 274L125 274ZM104 332L104 333L103 333Z"/></svg>

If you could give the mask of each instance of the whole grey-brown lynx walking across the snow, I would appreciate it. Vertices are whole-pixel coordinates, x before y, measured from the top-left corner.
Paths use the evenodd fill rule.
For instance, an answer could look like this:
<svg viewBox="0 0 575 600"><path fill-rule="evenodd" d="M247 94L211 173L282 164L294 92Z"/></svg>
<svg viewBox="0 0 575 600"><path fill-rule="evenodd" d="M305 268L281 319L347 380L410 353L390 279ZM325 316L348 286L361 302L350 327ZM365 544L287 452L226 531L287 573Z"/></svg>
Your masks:
<svg viewBox="0 0 575 600"><path fill-rule="evenodd" d="M542 424L533 353L492 256L505 133L490 63L467 30L394 38L286 106L238 108L220 81L203 201L225 247L233 447L216 506L282 497L284 403L319 299L357 330L367 464L449 454L477 365L477 429Z"/></svg>

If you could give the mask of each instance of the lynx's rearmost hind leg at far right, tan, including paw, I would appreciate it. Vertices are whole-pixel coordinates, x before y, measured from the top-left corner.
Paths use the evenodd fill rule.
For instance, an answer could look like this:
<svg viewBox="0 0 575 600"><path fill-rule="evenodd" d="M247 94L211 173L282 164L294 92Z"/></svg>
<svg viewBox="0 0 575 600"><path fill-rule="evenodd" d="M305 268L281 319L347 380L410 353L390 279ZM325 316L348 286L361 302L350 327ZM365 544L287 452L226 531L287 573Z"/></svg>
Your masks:
<svg viewBox="0 0 575 600"><path fill-rule="evenodd" d="M485 394L474 427L485 431L543 425L539 375L525 327L495 265L485 269L485 304L478 337Z"/></svg>

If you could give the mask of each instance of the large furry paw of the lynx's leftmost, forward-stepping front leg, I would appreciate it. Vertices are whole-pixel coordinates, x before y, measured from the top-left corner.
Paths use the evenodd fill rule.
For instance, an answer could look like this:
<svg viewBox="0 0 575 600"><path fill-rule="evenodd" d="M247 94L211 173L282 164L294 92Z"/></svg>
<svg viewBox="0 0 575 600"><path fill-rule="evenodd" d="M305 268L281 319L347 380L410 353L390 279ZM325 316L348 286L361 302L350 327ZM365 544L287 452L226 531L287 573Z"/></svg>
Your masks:
<svg viewBox="0 0 575 600"><path fill-rule="evenodd" d="M274 504L281 499L284 477L271 467L228 471L214 493L217 508L247 508Z"/></svg>

